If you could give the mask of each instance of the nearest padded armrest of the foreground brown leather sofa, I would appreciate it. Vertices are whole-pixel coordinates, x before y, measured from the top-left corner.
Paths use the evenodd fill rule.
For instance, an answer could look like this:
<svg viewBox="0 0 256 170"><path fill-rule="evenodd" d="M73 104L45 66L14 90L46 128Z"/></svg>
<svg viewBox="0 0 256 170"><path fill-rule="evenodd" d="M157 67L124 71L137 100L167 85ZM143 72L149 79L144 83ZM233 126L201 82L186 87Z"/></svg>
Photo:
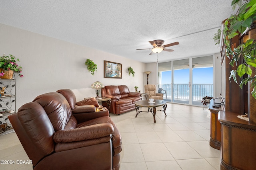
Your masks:
<svg viewBox="0 0 256 170"><path fill-rule="evenodd" d="M56 143L69 143L97 139L108 136L113 132L114 127L111 123L101 123L76 129L60 130L54 133L53 139Z"/></svg>

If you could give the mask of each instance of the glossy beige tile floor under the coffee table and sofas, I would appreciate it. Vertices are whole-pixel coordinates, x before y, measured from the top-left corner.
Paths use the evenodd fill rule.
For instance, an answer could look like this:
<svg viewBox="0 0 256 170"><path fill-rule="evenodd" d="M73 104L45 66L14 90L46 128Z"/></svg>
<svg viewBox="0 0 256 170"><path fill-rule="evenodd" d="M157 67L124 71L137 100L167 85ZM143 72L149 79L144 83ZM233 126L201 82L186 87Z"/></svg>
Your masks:
<svg viewBox="0 0 256 170"><path fill-rule="evenodd" d="M141 108L146 111L146 108ZM157 110L161 107L157 107ZM120 170L219 170L220 150L209 145L210 111L203 107L167 104L167 116L136 111L110 114L122 136ZM1 170L32 170L32 165L15 133L0 136Z"/></svg>

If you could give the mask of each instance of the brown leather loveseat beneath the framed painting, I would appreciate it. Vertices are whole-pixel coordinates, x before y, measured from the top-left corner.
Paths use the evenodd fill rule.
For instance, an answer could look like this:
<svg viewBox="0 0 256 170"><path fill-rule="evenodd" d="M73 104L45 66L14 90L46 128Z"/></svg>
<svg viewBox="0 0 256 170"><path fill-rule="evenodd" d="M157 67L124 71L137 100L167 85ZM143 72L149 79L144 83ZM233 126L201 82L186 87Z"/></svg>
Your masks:
<svg viewBox="0 0 256 170"><path fill-rule="evenodd" d="M122 114L135 109L135 102L141 100L140 93L130 92L125 85L105 86L101 89L102 97L111 98L110 112L114 114ZM102 102L103 106L107 106L106 102Z"/></svg>

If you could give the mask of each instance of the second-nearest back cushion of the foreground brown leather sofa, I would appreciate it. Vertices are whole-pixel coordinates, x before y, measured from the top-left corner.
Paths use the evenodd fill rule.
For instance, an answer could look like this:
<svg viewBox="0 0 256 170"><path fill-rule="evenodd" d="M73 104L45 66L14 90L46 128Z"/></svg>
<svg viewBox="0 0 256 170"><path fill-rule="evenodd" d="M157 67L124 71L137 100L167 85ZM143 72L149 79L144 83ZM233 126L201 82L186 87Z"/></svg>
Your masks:
<svg viewBox="0 0 256 170"><path fill-rule="evenodd" d="M33 102L39 103L47 113L54 131L66 127L71 117L71 108L64 96L57 92L42 94L36 97Z"/></svg>

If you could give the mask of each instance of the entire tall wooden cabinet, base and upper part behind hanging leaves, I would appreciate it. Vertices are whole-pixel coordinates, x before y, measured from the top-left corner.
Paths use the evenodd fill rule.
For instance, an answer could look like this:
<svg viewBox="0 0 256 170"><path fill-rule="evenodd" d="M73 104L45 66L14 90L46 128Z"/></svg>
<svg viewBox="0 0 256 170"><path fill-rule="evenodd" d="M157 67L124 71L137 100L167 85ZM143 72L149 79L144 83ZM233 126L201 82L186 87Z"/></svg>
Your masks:
<svg viewBox="0 0 256 170"><path fill-rule="evenodd" d="M221 39L223 38L225 37L221 37ZM243 35L237 35L230 39L232 48L238 47L242 41ZM221 124L220 169L255 170L256 100L248 92L248 89L250 90L248 84L243 89L239 87L238 84L242 78L236 77L238 84L234 80L230 82L230 71L236 70L237 66L235 64L234 68L230 66L231 57L226 57L225 47L225 44L222 43L222 70L225 70L224 81L222 81L224 86L222 87L225 90L225 109L218 113L218 121ZM242 59L239 62L242 62ZM249 113L249 121L237 117L244 113ZM250 121L250 119L255 121Z"/></svg>

